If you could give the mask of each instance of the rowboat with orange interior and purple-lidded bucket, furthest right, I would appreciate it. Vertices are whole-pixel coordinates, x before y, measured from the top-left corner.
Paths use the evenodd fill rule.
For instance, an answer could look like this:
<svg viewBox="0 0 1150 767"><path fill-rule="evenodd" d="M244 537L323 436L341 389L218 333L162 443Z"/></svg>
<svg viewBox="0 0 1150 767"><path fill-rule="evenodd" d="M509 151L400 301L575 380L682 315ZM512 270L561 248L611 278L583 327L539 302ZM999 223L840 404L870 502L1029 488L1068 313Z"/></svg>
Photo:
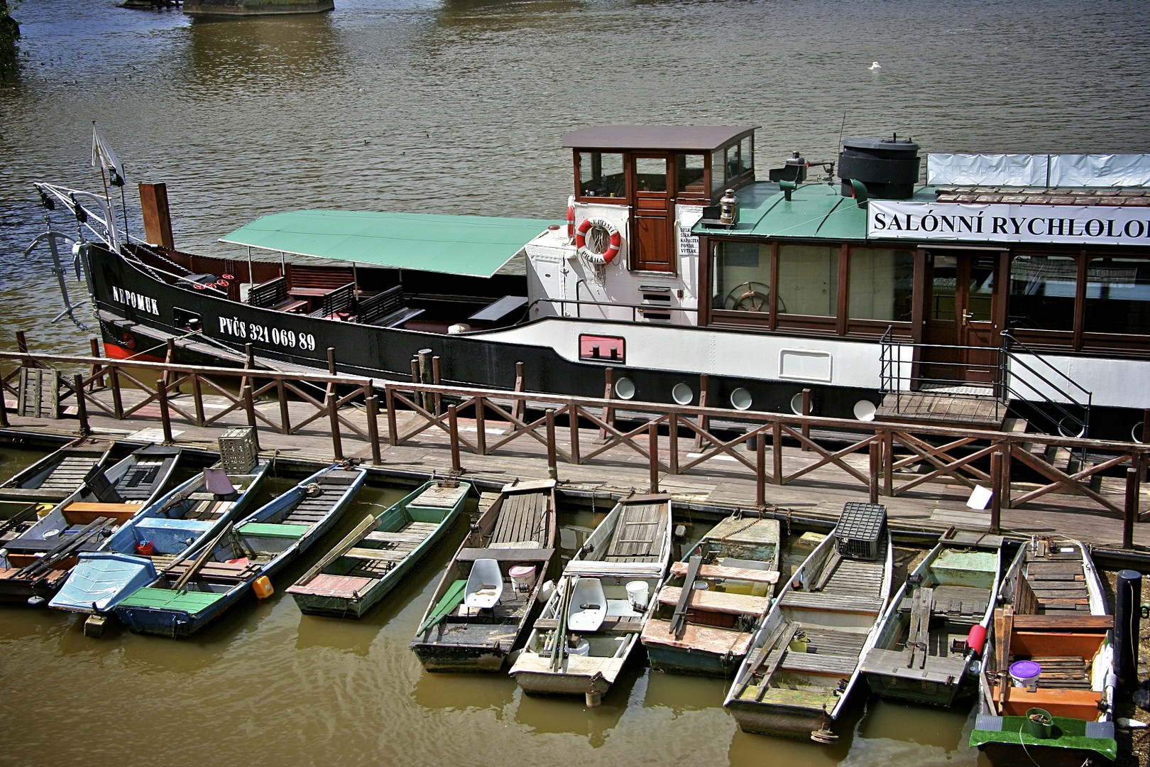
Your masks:
<svg viewBox="0 0 1150 767"><path fill-rule="evenodd" d="M1034 538L1004 580L969 744L995 765L1109 764L1114 618L1090 552Z"/></svg>

